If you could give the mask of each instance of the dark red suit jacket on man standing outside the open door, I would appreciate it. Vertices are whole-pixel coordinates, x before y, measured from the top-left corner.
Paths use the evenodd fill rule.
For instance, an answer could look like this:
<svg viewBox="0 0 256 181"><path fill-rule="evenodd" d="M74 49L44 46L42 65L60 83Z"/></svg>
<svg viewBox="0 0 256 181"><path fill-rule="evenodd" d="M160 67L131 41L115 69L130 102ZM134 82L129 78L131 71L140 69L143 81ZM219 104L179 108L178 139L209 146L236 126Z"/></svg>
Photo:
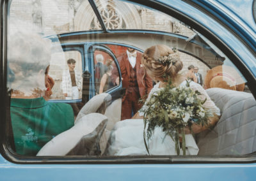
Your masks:
<svg viewBox="0 0 256 181"><path fill-rule="evenodd" d="M137 82L138 82L138 88L140 91L140 97L143 98L143 96L149 94L149 92L151 91L151 89L153 87L153 81L145 72L145 68L141 64L141 57L142 57L142 55L137 52L135 66L136 66L136 77L137 77ZM129 86L130 73L131 73L130 62L129 62L127 54L124 54L121 57L119 57L118 62L120 65L121 75L123 78L122 85L124 88L127 88ZM115 80L117 77L118 77L118 71L116 68L114 68L112 71L112 81L114 83L115 83ZM125 93L125 96L126 96L126 94L127 94L127 92ZM123 101L125 99L125 96L123 98Z"/></svg>

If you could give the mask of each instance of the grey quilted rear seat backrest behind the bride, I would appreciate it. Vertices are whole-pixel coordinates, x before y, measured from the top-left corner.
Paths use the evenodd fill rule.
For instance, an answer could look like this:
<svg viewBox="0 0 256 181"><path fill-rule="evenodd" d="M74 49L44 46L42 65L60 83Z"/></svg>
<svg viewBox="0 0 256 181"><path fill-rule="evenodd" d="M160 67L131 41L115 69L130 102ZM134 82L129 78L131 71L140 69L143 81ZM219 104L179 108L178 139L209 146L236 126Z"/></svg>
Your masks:
<svg viewBox="0 0 256 181"><path fill-rule="evenodd" d="M197 136L199 155L237 155L256 151L256 101L247 92L207 89L221 110L212 131Z"/></svg>

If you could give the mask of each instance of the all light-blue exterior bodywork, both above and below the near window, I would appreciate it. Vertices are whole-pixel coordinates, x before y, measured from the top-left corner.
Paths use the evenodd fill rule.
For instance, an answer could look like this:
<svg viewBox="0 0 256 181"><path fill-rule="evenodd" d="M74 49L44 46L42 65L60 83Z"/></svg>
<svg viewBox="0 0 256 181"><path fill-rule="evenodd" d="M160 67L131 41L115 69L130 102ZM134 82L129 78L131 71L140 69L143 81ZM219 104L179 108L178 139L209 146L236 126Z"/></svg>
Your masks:
<svg viewBox="0 0 256 181"><path fill-rule="evenodd" d="M205 8L216 18L205 15L203 11L194 8L186 1L154 2L182 12L218 36L243 62L247 68L244 71L248 71L255 79L256 24L252 15L252 0L191 1ZM220 21L224 24L221 25ZM229 31L226 26L229 27ZM230 163L16 164L0 156L0 180L255 180L255 178L256 163L253 161L232 163L232 159Z"/></svg>

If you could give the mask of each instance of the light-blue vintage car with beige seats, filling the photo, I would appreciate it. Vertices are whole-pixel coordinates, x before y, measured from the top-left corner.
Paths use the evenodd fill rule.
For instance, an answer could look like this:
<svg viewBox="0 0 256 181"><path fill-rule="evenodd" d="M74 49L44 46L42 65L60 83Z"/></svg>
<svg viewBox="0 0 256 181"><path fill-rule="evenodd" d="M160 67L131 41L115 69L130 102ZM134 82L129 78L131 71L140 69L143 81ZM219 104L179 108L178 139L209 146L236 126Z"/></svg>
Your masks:
<svg viewBox="0 0 256 181"><path fill-rule="evenodd" d="M255 0L1 0L0 12L0 180L255 180ZM15 35L17 30L22 32L21 37ZM33 38L33 34L40 38ZM41 45L42 40L48 42ZM198 147L194 155L106 154L111 144L109 134L122 115L125 87L120 57L127 48L141 55L148 47L159 44L179 50L182 73L188 71L190 64L199 68L202 80L196 82L220 108L220 120L211 130L193 135ZM49 59L44 59L46 54L51 55ZM70 96L74 92L70 88L69 94L65 84L72 82L71 78L65 79L68 59L76 60L76 85L72 85L77 87L76 97ZM113 81L106 89L100 85L100 62L104 74L109 65L116 70L119 83ZM14 124L12 112L18 106L10 98L24 98L31 89L31 95L40 94L40 84L36 84L39 88L35 91L31 81L37 76L32 70L39 64L50 65L45 75L55 82L50 86L47 103L71 105L68 108L74 112L75 123L67 131L52 134L52 140L43 138L47 141L35 148L37 154L26 154L19 148L35 147L29 143L37 144L47 132L36 126L24 128L26 121L35 117L28 111L33 108L30 105L16 113L29 115ZM22 69L27 71L22 73ZM47 86L44 80L41 83ZM26 91L23 94L15 89ZM82 133L81 127L76 126L77 119L83 116L80 112L101 113L108 123ZM44 110L43 115L50 115L49 110ZM58 119L59 115L54 116ZM68 111L60 116L61 120L67 119ZM97 122L96 118L90 117L92 122ZM42 127L50 124L38 122ZM86 129L86 125L82 128ZM21 138L16 141L18 132ZM88 138L94 139L93 147L84 146ZM77 147L87 152L77 152ZM90 149L95 152L90 153Z"/></svg>

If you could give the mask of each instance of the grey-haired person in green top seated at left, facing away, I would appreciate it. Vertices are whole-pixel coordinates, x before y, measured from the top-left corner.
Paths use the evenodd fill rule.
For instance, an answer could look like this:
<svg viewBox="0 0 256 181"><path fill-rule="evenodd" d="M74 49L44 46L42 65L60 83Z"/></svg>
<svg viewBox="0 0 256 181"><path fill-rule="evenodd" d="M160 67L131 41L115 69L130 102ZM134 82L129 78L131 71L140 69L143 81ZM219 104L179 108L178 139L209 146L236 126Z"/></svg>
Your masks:
<svg viewBox="0 0 256 181"><path fill-rule="evenodd" d="M8 52L8 75L13 75L7 80L13 151L36 156L45 143L74 126L74 112L65 103L46 101L53 86L48 86L49 75L45 74L51 60L49 40L38 34L16 33L8 41Z"/></svg>

